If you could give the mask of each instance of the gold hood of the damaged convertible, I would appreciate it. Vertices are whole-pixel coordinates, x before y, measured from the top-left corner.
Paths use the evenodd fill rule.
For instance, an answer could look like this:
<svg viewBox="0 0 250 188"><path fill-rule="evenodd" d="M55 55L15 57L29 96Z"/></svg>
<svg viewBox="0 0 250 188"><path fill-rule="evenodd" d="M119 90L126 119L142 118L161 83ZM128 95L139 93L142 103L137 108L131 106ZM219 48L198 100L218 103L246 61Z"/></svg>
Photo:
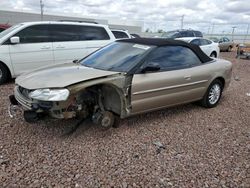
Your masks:
<svg viewBox="0 0 250 188"><path fill-rule="evenodd" d="M25 73L17 77L16 84L30 90L63 88L78 82L118 73L85 67L79 64L66 63Z"/></svg>

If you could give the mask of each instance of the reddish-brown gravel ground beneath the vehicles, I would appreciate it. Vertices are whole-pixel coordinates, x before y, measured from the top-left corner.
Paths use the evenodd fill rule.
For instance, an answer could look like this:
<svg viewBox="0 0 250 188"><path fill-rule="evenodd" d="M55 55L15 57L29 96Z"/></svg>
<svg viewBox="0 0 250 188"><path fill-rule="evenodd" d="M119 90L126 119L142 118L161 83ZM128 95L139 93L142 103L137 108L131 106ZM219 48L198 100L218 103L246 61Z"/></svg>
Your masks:
<svg viewBox="0 0 250 188"><path fill-rule="evenodd" d="M139 115L103 131L76 120L24 122L0 86L0 187L250 187L250 61L234 65L213 109L194 104Z"/></svg>

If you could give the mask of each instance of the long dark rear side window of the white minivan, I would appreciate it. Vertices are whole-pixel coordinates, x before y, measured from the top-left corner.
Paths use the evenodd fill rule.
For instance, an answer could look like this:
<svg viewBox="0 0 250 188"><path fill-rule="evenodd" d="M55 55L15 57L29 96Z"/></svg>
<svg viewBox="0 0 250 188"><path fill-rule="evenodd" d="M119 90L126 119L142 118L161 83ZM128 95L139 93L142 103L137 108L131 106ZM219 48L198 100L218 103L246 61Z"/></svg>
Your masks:
<svg viewBox="0 0 250 188"><path fill-rule="evenodd" d="M80 25L51 25L53 42L108 40L109 35L102 27Z"/></svg>

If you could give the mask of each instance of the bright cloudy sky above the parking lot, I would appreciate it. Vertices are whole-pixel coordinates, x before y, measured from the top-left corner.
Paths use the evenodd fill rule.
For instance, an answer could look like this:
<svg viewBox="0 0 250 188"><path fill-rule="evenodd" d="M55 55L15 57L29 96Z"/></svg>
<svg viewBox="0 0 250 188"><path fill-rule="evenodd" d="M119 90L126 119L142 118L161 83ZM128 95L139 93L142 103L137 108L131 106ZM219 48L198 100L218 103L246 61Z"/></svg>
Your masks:
<svg viewBox="0 0 250 188"><path fill-rule="evenodd" d="M184 23L249 22L244 0L43 0L44 13L143 20L153 28L179 27ZM40 11L39 0L1 0L1 9ZM207 28L206 28L207 29Z"/></svg>

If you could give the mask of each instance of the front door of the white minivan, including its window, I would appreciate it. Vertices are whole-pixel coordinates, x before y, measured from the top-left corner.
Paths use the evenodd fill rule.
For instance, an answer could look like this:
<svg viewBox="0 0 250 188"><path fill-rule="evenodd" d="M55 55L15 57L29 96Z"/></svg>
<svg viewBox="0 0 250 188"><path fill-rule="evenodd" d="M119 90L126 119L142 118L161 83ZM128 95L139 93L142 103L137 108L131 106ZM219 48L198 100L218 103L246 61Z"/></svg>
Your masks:
<svg viewBox="0 0 250 188"><path fill-rule="evenodd" d="M13 36L19 37L20 43L12 44L10 39L6 42L9 45L10 58L16 76L54 63L48 24L26 27Z"/></svg>

